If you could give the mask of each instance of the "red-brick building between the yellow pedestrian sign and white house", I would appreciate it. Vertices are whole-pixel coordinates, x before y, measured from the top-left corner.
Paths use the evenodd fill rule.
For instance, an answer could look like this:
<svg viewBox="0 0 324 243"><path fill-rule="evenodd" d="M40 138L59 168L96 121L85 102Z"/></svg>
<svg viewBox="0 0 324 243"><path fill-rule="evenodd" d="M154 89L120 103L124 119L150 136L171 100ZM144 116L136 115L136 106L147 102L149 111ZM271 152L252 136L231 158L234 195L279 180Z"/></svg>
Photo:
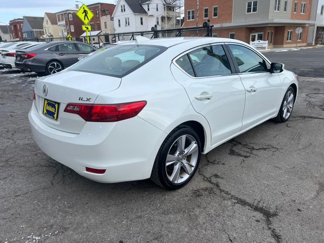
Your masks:
<svg viewBox="0 0 324 243"><path fill-rule="evenodd" d="M95 3L87 5L94 14L90 25L93 31L101 30L101 34L114 33L113 19L111 15L115 10L114 4Z"/></svg>

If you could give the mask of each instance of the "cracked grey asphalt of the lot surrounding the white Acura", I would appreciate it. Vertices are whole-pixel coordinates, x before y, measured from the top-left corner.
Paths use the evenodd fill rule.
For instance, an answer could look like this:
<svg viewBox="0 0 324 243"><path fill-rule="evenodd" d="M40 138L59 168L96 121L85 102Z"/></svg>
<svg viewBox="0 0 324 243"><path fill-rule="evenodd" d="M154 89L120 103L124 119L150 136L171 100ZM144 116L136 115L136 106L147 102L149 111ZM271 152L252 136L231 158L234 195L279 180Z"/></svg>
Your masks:
<svg viewBox="0 0 324 243"><path fill-rule="evenodd" d="M27 113L36 74L0 70L0 242L324 242L324 79L291 119L212 150L192 181L101 184L45 155Z"/></svg>

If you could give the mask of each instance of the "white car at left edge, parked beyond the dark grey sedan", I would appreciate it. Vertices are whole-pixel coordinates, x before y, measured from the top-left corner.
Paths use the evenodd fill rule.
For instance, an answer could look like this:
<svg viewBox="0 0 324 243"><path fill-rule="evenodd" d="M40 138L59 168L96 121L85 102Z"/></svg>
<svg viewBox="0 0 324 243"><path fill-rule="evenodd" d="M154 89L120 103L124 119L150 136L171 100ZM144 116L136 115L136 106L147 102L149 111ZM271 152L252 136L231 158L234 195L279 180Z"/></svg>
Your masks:
<svg viewBox="0 0 324 243"><path fill-rule="evenodd" d="M4 67L15 68L16 51L27 49L40 44L39 42L19 42L7 48L0 48L0 64Z"/></svg>

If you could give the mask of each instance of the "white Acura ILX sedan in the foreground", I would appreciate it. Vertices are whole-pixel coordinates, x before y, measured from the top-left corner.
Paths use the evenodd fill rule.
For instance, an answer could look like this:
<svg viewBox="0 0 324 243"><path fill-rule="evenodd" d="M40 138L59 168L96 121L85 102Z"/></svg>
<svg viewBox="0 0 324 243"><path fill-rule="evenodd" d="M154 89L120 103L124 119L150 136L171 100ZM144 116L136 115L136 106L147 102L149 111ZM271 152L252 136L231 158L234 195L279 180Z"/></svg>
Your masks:
<svg viewBox="0 0 324 243"><path fill-rule="evenodd" d="M84 177L177 189L201 153L287 121L297 93L294 73L246 43L138 37L37 79L29 120L37 145Z"/></svg>

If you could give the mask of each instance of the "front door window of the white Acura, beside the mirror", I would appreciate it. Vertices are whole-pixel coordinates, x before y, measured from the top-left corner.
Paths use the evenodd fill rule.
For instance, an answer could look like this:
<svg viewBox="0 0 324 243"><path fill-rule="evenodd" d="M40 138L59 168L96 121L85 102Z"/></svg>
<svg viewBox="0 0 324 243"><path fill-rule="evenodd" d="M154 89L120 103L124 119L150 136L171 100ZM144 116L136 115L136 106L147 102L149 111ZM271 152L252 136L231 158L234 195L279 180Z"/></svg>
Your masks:
<svg viewBox="0 0 324 243"><path fill-rule="evenodd" d="M263 72L268 71L270 65L252 50L238 46L229 45L237 63L239 72Z"/></svg>

